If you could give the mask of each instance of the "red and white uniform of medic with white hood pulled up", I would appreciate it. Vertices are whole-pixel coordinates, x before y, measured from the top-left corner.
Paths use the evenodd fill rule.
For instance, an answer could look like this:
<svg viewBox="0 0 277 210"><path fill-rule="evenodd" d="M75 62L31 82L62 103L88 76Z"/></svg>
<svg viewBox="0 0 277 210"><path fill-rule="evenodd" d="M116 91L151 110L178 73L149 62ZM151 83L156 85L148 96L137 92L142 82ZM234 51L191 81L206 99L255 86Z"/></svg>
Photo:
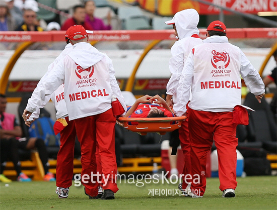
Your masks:
<svg viewBox="0 0 277 210"><path fill-rule="evenodd" d="M176 93L179 80L182 74L184 63L187 59L192 48L196 45L202 44L199 38L199 30L197 25L199 22L199 15L196 10L188 9L175 14L175 27L179 36L178 41L174 43L171 48L172 57L169 60L169 70L171 77L167 83L167 94L172 95L173 102L177 102ZM186 113L187 119L182 122L179 128L180 145L185 157L185 165L182 174L184 176L190 171L190 145L188 137L188 112ZM183 176L183 178L184 178ZM183 189L187 187L187 183L183 181Z"/></svg>

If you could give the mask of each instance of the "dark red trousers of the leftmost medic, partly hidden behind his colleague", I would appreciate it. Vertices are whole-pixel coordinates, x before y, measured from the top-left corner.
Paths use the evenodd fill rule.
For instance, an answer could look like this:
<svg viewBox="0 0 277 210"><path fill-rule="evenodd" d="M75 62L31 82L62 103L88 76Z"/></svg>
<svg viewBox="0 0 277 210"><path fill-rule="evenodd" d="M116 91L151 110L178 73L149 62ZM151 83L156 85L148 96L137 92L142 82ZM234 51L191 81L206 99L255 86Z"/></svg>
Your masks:
<svg viewBox="0 0 277 210"><path fill-rule="evenodd" d="M68 117L65 120L68 125L60 132L60 146L56 167L56 185L64 188L72 185L76 139L74 121L68 121Z"/></svg>

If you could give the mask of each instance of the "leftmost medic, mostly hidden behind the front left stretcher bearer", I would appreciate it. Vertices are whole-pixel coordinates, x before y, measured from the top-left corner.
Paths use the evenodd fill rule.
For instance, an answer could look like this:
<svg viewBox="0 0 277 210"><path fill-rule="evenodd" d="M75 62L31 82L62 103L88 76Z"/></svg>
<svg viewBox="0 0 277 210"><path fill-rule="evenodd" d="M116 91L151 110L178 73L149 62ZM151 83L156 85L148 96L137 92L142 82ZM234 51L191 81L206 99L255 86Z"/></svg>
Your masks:
<svg viewBox="0 0 277 210"><path fill-rule="evenodd" d="M87 31L87 33L93 33L92 31ZM65 33L67 34L67 32ZM48 71L38 82L37 87L34 89L29 101L35 100L38 97L38 92L41 88L41 84L49 72L54 69L55 65L58 64L68 53L72 51L73 45L70 43L68 37L65 37L67 45L64 50L59 54L59 56L48 66ZM57 165L56 165L56 194L59 198L67 198L70 186L72 185L73 169L74 169L74 148L76 141L76 130L73 121L68 120L68 113L66 109L66 104L64 101L64 84L61 84L51 95L47 95L44 98L44 102L40 108L43 108L49 99L54 103L56 110L57 121L54 124L54 132L57 135L60 133L60 147L57 154ZM32 113L28 121L25 122L27 126L30 127L32 122L39 117L40 109L37 108L35 112ZM96 154L97 155L97 154ZM101 173L101 164L99 164L97 158L97 171ZM98 187L98 197L101 198L103 194L103 189L101 186Z"/></svg>

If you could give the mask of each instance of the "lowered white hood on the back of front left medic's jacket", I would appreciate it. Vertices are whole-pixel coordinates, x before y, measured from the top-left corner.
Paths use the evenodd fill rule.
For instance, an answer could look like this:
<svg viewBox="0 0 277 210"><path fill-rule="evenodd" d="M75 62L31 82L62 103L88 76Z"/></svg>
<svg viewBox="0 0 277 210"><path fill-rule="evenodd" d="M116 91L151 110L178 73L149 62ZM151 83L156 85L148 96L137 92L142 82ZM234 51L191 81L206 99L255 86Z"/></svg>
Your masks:
<svg viewBox="0 0 277 210"><path fill-rule="evenodd" d="M68 54L78 65L86 69L101 61L105 54L99 52L87 42L79 42L73 45L73 50Z"/></svg>

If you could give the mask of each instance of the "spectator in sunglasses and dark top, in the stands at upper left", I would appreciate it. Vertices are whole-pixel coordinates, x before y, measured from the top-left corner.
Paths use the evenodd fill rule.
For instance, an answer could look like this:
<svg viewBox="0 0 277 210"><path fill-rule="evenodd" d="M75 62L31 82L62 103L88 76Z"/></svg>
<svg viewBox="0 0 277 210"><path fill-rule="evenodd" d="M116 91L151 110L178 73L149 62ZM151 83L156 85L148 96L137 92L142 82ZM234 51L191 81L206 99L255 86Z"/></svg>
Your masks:
<svg viewBox="0 0 277 210"><path fill-rule="evenodd" d="M36 20L37 14L31 9L24 10L23 24L16 31L43 31L43 28L38 25Z"/></svg>

